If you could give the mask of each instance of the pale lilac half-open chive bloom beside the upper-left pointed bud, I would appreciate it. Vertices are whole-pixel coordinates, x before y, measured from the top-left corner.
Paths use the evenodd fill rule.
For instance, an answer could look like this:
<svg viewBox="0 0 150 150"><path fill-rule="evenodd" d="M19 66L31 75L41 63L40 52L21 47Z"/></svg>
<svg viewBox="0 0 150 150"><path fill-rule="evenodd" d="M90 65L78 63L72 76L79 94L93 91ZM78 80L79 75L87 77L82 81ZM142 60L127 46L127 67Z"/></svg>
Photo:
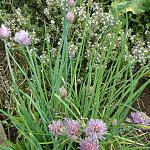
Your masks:
<svg viewBox="0 0 150 150"><path fill-rule="evenodd" d="M20 32L17 32L15 34L15 41L24 45L24 46L28 46L31 41L29 38L29 33L27 31L21 30Z"/></svg>

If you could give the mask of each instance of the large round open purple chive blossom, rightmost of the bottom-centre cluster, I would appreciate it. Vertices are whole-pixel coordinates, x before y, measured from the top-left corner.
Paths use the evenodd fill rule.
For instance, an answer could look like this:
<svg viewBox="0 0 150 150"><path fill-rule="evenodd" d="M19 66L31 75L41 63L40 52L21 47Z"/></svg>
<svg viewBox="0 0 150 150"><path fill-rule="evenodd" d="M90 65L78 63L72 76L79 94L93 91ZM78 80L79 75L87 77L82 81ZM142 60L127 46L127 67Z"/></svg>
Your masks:
<svg viewBox="0 0 150 150"><path fill-rule="evenodd" d="M107 133L107 126L106 124L99 119L90 119L86 129L85 129L86 136L93 137L96 139L104 138L104 135Z"/></svg>

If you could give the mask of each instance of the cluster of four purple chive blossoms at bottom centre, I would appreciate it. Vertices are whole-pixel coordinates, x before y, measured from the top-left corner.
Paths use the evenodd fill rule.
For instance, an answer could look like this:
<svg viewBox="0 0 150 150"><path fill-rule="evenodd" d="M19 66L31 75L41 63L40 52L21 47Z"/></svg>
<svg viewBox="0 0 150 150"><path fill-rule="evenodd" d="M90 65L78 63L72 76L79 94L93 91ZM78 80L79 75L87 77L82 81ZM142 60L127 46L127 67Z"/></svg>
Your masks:
<svg viewBox="0 0 150 150"><path fill-rule="evenodd" d="M52 123L48 125L49 131L54 136L66 134L74 142L76 142L78 138L80 139L80 135L84 132L85 139L80 139L79 149L98 150L99 140L104 139L107 133L106 124L102 120L92 118L84 129L81 129L81 127L80 123L73 119L64 119L63 122L60 120L52 121Z"/></svg>

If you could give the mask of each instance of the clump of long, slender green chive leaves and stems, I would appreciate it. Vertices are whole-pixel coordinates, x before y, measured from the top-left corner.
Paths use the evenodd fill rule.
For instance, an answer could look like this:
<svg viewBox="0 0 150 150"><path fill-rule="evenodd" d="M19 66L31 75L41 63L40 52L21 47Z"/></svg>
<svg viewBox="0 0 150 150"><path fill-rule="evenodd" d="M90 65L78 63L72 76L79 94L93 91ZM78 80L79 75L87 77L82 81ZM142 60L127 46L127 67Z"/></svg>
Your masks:
<svg viewBox="0 0 150 150"><path fill-rule="evenodd" d="M65 14L66 12L64 12L64 16ZM90 118L103 119L108 126L108 135L104 141L100 142L101 149L146 148L146 145L142 143L142 138L139 138L138 135L134 136L134 127L129 127L124 121L129 110L132 109L132 104L150 83L150 80L148 80L137 88L137 84L145 74L147 66L133 73L131 60L128 59L126 63L123 62L124 55L129 56L127 31L123 33L120 24L115 24L114 36L109 45L106 45L98 67L95 68L94 64L96 54L100 51L95 48L96 53L91 54L91 58L87 62L88 69L83 68L84 51L88 41L88 32L90 32L86 25L89 15L90 10L88 9L81 46L75 59L68 58L69 24L66 20L64 21L60 49L55 61L52 59L52 47L48 43L45 25L46 40L43 42L43 51L47 50L49 58L49 63L46 65L38 57L34 51L34 44L32 44L32 52L29 47L20 48L20 53L28 65L28 68L23 67L15 59L11 47L8 47L7 41L5 41L7 62L15 89L12 99L16 109L13 110L14 112L0 111L17 128L18 137L16 144L11 143L11 146L6 146L4 149L76 149L77 144L72 143L67 137L56 139L48 132L47 125L52 120L63 118L76 119L82 126ZM100 38L107 39L104 33ZM122 41L118 53L114 55L113 47L118 34L121 34ZM111 64L110 58L113 58ZM18 85L12 64L17 67L23 76L26 88ZM81 76L83 80L79 84ZM62 98L59 93L62 86L65 86L68 90L66 98ZM112 125L116 119L118 124Z"/></svg>

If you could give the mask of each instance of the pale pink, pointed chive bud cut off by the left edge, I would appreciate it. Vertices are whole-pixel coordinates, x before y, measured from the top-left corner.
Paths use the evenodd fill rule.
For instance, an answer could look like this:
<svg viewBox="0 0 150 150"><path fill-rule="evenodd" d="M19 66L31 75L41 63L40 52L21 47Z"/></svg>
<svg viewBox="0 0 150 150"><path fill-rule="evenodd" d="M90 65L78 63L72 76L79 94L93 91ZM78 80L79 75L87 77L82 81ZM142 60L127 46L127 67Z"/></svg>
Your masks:
<svg viewBox="0 0 150 150"><path fill-rule="evenodd" d="M10 30L2 24L0 28L0 39L6 39L10 36L10 34Z"/></svg>

